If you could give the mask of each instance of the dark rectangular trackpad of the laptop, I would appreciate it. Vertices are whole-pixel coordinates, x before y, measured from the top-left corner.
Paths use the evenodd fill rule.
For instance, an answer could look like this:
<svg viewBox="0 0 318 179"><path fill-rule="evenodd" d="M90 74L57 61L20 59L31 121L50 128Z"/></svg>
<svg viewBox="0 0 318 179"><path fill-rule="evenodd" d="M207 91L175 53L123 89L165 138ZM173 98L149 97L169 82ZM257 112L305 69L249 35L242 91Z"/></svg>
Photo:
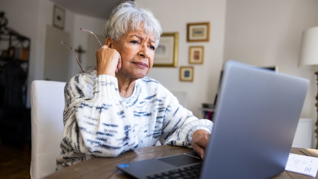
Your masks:
<svg viewBox="0 0 318 179"><path fill-rule="evenodd" d="M192 163L202 162L201 159L198 159L198 158L192 157L190 155L186 155L186 154L160 158L160 159L157 159L157 160L169 163L170 165L174 165L176 167L181 167L181 166L189 165L189 164L192 164Z"/></svg>

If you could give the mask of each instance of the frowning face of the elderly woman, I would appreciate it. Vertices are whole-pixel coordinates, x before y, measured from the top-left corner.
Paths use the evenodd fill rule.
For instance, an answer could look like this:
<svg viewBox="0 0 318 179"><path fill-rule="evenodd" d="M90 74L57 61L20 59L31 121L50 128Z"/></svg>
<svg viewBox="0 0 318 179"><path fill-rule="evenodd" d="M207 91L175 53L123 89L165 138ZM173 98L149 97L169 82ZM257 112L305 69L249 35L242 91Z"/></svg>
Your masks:
<svg viewBox="0 0 318 179"><path fill-rule="evenodd" d="M124 77L143 78L152 68L156 39L154 34L144 31L132 31L113 41L111 48L121 55L121 69L118 74Z"/></svg>

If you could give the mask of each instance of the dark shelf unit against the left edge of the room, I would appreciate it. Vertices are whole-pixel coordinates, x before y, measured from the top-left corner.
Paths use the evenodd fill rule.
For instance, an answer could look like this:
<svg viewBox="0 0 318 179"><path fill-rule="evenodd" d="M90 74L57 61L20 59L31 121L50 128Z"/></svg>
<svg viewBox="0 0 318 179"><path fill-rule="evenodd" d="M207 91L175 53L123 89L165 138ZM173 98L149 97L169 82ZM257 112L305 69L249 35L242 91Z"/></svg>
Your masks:
<svg viewBox="0 0 318 179"><path fill-rule="evenodd" d="M26 107L31 39L7 26L0 12L0 140L31 141L31 110Z"/></svg>

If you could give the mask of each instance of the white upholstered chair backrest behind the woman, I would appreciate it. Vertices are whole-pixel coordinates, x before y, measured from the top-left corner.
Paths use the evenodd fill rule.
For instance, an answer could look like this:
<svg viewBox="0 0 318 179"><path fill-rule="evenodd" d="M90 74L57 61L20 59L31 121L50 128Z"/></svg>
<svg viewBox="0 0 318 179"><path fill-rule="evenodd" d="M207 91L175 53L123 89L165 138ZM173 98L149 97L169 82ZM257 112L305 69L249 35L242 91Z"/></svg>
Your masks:
<svg viewBox="0 0 318 179"><path fill-rule="evenodd" d="M63 132L65 82L35 80L31 84L31 177L55 172Z"/></svg>

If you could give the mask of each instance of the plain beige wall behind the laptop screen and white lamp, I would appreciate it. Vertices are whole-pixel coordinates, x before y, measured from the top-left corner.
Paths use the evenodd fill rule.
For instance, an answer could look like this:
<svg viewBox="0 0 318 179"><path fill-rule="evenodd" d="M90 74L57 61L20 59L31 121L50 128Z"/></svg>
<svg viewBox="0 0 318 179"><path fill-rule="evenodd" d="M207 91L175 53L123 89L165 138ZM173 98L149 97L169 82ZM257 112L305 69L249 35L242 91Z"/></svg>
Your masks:
<svg viewBox="0 0 318 179"><path fill-rule="evenodd" d="M317 25L317 0L227 0L224 61L277 65L280 72L308 78L301 117L315 121L317 67L298 67L298 56L302 31Z"/></svg>

